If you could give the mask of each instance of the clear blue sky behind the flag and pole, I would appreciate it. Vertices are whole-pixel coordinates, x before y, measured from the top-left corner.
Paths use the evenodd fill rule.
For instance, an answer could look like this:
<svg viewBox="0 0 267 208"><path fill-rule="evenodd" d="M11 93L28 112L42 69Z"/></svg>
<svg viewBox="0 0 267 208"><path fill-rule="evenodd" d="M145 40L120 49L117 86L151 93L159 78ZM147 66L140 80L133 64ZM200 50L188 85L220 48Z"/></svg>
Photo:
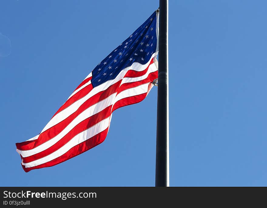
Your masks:
<svg viewBox="0 0 267 208"><path fill-rule="evenodd" d="M113 113L102 144L59 165L25 173L15 143L37 135L158 6L1 0L0 185L154 186L156 87ZM266 7L169 1L171 186L267 186Z"/></svg>

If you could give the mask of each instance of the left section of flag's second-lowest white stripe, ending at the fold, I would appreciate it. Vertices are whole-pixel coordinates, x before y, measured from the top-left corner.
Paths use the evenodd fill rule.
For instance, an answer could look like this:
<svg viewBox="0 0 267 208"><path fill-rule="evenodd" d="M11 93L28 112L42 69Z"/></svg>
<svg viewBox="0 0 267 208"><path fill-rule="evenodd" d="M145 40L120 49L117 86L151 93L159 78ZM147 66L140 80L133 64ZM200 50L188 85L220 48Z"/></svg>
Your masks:
<svg viewBox="0 0 267 208"><path fill-rule="evenodd" d="M22 157L29 157L33 154L37 154L39 152L42 152L46 150L47 148L51 147L52 145L56 144L60 139L62 139L67 133L69 133L70 130L72 130L76 125L78 125L83 120L89 118L90 116L95 115L96 113L99 113L101 110L105 109L108 106L111 106L113 104L113 101L116 97L116 92L107 97L106 99L103 99L102 101L94 104L93 106L87 108L82 113L80 113L75 119L73 119L65 129L63 129L58 135L51 138L50 140L47 140L43 144L40 144L39 146L30 149L30 150L18 150L18 152L22 155Z"/></svg>

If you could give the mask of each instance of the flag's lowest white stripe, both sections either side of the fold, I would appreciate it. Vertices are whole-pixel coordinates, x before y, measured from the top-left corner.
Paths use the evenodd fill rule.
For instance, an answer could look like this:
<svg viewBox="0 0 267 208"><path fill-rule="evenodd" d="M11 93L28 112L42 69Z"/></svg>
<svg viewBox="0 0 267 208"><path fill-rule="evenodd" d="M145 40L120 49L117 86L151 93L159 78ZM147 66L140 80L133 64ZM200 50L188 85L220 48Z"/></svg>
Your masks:
<svg viewBox="0 0 267 208"><path fill-rule="evenodd" d="M126 97L140 95L140 94L147 92L149 84L150 84L150 82L120 92L116 96L116 98L113 99L113 103L117 102L120 99L126 98ZM23 163L22 162L22 165L25 165L26 168L33 167L33 166L40 165L42 163L51 161L51 160L61 156L62 154L65 154L69 149L71 149L75 145L77 145L77 144L87 140L88 138L95 136L97 133L100 133L101 131L105 130L109 126L109 119L110 118L106 118L106 119L100 121L99 123L97 123L96 125L94 125L93 127L90 127L89 129L77 134L69 142L64 144L62 147L60 147L55 152L53 152L53 153L51 153L51 154L49 154L43 158L29 162L29 163Z"/></svg>

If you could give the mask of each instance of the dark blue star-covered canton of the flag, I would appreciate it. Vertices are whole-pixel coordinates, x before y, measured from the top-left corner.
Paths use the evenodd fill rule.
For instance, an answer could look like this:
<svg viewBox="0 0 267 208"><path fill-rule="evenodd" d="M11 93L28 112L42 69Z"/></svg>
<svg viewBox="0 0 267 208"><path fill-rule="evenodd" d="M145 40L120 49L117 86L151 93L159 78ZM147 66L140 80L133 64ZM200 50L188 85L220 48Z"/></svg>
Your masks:
<svg viewBox="0 0 267 208"><path fill-rule="evenodd" d="M157 17L154 12L133 34L113 50L92 71L93 87L117 77L121 70L134 62L145 64L157 47Z"/></svg>

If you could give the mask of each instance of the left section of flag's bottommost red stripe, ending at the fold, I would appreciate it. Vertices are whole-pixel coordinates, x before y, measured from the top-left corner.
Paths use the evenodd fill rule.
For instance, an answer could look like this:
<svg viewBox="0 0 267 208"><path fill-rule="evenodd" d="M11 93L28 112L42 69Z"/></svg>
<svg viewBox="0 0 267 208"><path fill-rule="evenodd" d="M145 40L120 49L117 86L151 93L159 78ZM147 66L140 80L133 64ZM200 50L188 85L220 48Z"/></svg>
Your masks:
<svg viewBox="0 0 267 208"><path fill-rule="evenodd" d="M76 146L72 147L69 151L67 151L65 154L59 156L58 158L55 158L49 162L43 163L41 165L37 165L34 167L30 167L30 168L25 168L25 165L22 165L22 168L24 169L25 172L29 172L33 169L39 169L39 168L45 168L45 167L51 167L53 165L57 165L59 163L62 163L70 158L73 158L93 147L95 147L98 144L101 144L107 135L108 132L108 128L98 134L96 134L95 136L91 137L90 139L87 139L86 141L77 144Z"/></svg>

